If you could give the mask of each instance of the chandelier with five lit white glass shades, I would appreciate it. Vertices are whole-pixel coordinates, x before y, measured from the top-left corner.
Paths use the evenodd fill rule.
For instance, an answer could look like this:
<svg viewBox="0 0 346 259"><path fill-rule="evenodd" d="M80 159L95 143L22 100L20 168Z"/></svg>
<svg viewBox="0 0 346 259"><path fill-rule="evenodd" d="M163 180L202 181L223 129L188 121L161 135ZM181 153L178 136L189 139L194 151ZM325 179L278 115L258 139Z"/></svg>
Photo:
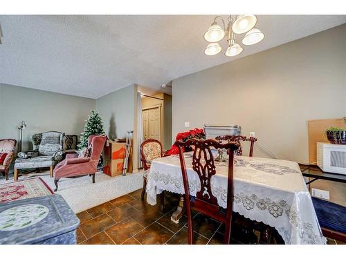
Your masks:
<svg viewBox="0 0 346 259"><path fill-rule="evenodd" d="M217 19L221 19L224 28L221 28L221 26L217 24ZM243 52L243 48L237 44L235 35L246 33L242 39L242 44L245 46L257 44L264 39L264 34L259 29L255 28L256 23L256 15L239 15L235 17L230 15L226 28L224 19L220 16L215 17L210 28L204 33L204 39L210 42L206 50L204 50L204 54L208 56L219 54L222 48L218 42L226 36L227 50L225 55L227 57L239 55Z"/></svg>

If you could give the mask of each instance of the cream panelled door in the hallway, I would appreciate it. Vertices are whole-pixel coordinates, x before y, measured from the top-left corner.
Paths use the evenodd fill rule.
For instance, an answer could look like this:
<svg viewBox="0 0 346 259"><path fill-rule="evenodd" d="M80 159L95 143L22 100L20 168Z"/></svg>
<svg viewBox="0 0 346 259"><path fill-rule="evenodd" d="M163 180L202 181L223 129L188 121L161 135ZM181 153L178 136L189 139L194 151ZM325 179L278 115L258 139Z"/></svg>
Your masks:
<svg viewBox="0 0 346 259"><path fill-rule="evenodd" d="M144 140L154 139L161 141L161 113L160 108L151 108L142 111Z"/></svg>

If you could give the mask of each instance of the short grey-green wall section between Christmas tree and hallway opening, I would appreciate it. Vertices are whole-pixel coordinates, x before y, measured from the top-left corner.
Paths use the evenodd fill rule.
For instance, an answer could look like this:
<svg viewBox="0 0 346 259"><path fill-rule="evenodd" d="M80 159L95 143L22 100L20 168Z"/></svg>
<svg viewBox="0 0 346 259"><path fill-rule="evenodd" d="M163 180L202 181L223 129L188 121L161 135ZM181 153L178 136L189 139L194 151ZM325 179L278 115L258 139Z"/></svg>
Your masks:
<svg viewBox="0 0 346 259"><path fill-rule="evenodd" d="M137 85L130 85L96 99L96 111L104 119L104 130L110 139L125 138L134 131L137 145ZM137 148L134 148L134 169L137 168Z"/></svg>

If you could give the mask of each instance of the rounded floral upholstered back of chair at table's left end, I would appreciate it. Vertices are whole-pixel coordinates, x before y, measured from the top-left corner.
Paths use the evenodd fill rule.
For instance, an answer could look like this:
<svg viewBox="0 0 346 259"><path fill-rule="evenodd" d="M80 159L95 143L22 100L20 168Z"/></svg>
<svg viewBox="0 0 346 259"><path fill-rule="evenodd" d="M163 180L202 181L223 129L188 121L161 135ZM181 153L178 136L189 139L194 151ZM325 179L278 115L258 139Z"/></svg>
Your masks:
<svg viewBox="0 0 346 259"><path fill-rule="evenodd" d="M163 148L161 142L154 139L145 140L140 144L140 159L143 162L144 170L150 168L152 160L163 156Z"/></svg>

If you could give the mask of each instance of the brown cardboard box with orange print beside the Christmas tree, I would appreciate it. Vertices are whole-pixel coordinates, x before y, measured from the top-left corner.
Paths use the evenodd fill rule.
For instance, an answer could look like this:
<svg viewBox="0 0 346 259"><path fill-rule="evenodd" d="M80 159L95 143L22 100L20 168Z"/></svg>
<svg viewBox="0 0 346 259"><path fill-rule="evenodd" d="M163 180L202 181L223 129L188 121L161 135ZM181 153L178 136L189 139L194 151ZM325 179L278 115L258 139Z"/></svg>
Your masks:
<svg viewBox="0 0 346 259"><path fill-rule="evenodd" d="M130 153L131 157L131 153ZM129 157L129 167L132 159ZM118 142L109 140L109 146L104 148L104 167L103 173L109 175L111 177L121 175L122 167L124 166L124 158L125 158L125 141L118 140ZM127 170L129 173L132 171Z"/></svg>

